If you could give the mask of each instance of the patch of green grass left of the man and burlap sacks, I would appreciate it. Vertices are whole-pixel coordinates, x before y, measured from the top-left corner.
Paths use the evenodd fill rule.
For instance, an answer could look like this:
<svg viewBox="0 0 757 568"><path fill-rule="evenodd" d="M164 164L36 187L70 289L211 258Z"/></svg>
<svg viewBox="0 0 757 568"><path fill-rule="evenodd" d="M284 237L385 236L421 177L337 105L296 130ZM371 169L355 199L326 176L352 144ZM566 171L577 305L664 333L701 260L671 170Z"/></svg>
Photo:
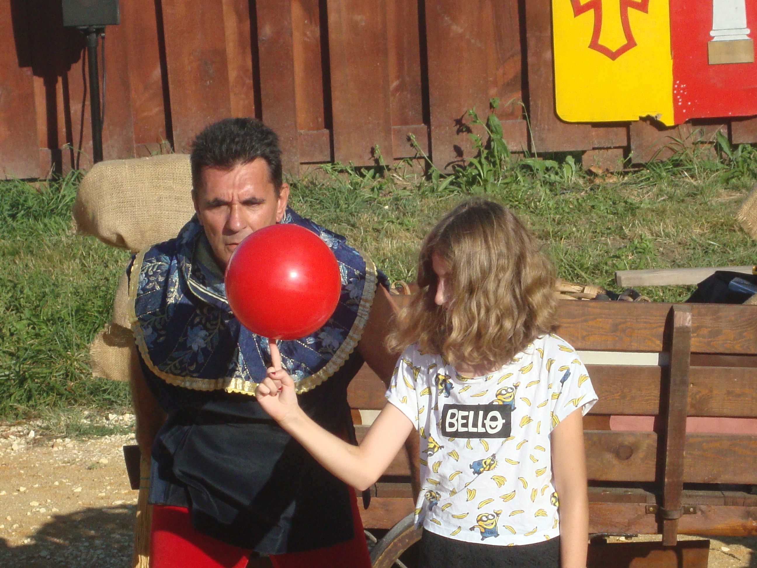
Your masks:
<svg viewBox="0 0 757 568"><path fill-rule="evenodd" d="M71 232L78 178L0 183L0 417L123 407L128 387L92 379L87 346L111 314L128 254Z"/></svg>

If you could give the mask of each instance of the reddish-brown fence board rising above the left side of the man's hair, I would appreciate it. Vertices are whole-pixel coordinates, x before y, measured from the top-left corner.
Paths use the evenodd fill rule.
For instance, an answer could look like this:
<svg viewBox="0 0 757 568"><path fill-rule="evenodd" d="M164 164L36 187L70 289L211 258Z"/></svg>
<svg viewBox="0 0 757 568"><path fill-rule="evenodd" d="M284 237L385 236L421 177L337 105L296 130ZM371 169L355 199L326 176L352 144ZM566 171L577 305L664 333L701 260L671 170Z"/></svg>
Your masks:
<svg viewBox="0 0 757 568"><path fill-rule="evenodd" d="M231 114L223 5L162 0L162 6L173 143L187 152L204 126Z"/></svg>

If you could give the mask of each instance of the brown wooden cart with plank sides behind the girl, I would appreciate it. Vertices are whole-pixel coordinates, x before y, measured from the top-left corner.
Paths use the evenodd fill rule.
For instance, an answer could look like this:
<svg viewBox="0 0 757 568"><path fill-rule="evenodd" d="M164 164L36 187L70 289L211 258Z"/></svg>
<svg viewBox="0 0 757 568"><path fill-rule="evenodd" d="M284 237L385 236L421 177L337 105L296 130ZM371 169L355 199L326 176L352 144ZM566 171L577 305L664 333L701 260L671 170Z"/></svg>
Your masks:
<svg viewBox="0 0 757 568"><path fill-rule="evenodd" d="M561 302L559 315L599 396L584 419L590 533L662 534L665 546L680 532L757 535L757 435L686 432L687 417L757 417L757 307L581 301ZM384 392L363 367L349 389L354 414L371 417ZM610 429L628 415L656 417L654 430ZM366 429L357 426L359 439ZM412 512L407 455L371 495L366 529ZM602 565L597 554L590 566ZM706 566L706 548L695 557L671 566Z"/></svg>

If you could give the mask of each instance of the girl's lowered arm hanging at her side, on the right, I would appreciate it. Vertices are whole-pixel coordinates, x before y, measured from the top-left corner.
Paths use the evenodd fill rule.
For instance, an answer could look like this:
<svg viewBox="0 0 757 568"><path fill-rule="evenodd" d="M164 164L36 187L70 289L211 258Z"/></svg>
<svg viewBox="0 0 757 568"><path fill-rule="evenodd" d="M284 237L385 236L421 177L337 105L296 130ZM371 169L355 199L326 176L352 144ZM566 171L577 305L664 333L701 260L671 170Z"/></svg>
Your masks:
<svg viewBox="0 0 757 568"><path fill-rule="evenodd" d="M585 568L589 540L584 423L574 410L551 434L552 471L559 498L560 566Z"/></svg>

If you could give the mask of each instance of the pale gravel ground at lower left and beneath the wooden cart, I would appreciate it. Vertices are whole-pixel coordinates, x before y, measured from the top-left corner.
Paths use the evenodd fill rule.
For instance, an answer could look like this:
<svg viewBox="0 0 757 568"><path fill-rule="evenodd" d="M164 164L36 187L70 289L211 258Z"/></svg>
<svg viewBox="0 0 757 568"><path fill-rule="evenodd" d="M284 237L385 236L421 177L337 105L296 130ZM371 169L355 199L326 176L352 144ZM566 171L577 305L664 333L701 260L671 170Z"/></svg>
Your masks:
<svg viewBox="0 0 757 568"><path fill-rule="evenodd" d="M111 420L129 424L133 417ZM134 444L134 435L50 439L30 434L32 428L0 426L0 566L131 566L137 492L129 488L121 448ZM688 538L698 537L681 537ZM757 537L711 538L709 566L757 568Z"/></svg>

